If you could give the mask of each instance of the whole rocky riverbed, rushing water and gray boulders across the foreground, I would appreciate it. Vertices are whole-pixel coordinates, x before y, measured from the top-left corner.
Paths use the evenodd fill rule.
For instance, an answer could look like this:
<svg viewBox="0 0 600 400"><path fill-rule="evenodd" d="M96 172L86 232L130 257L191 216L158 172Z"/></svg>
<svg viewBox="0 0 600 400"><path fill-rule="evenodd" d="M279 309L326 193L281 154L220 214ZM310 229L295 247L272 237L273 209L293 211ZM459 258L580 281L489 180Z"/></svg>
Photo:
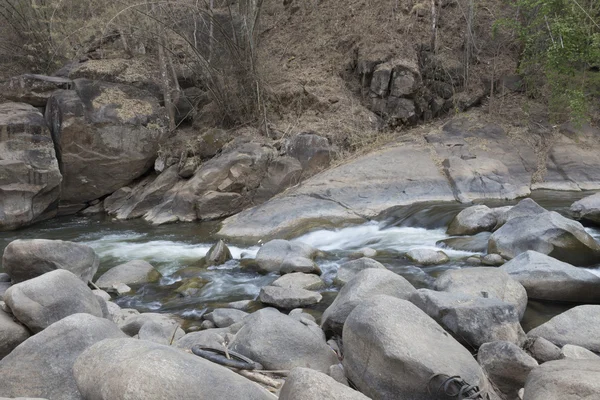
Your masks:
<svg viewBox="0 0 600 400"><path fill-rule="evenodd" d="M579 197L537 196L561 213L432 205L253 246L217 225L97 217L3 234L0 395L600 398L599 232L569 218L600 208L569 207Z"/></svg>

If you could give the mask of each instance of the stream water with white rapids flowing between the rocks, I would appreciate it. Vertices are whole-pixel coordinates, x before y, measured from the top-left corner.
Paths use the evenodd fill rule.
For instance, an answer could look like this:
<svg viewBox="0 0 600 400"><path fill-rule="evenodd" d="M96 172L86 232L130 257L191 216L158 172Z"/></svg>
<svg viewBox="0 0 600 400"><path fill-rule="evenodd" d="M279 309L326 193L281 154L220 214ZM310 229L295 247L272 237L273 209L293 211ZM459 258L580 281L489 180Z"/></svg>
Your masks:
<svg viewBox="0 0 600 400"><path fill-rule="evenodd" d="M548 209L565 212L582 194L540 192L532 197ZM404 254L413 248L439 249L436 242L448 237L445 228L461 208L464 206L456 204L404 207L388 213L384 221L319 230L294 239L326 252L324 258L317 260L327 287L323 290L324 300L315 307L315 312L322 311L335 297L337 288L332 281L339 265L364 247L377 250L378 261L416 287L429 287L435 277L447 269L465 267L464 259L475 253L443 249L450 261L433 267L418 267L404 258ZM276 275L259 275L242 267L243 259L255 257L258 245L236 246L229 243L233 260L219 267L194 268L202 265L202 258L215 242L217 229L218 224L215 223L155 227L140 220L123 222L101 216L63 217L16 232L0 232L0 254L12 240L43 238L70 240L93 247L101 260L99 274L118 264L144 259L154 265L163 278L158 283L135 287L133 294L119 297L117 303L144 312L175 313L193 324L211 308L232 301L255 299L262 286L277 278ZM600 231L590 228L588 231L600 239ZM600 275L600 270L591 270ZM181 285L183 276L189 274L200 276L209 283L197 296L175 294L174 290ZM524 328L528 330L537 326L572 306L531 301L523 321Z"/></svg>

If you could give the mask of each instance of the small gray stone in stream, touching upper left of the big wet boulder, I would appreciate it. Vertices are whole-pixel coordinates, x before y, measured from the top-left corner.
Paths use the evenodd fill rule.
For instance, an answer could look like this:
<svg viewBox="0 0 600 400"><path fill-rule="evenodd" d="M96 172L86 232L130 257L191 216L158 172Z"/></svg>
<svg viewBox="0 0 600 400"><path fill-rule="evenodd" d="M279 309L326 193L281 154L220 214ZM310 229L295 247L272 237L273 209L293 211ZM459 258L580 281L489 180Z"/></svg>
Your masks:
<svg viewBox="0 0 600 400"><path fill-rule="evenodd" d="M459 212L450 222L446 233L452 236L475 235L480 232L491 232L498 223L498 219L503 219L503 214L511 207L489 208L484 205L477 205L465 208Z"/></svg>

